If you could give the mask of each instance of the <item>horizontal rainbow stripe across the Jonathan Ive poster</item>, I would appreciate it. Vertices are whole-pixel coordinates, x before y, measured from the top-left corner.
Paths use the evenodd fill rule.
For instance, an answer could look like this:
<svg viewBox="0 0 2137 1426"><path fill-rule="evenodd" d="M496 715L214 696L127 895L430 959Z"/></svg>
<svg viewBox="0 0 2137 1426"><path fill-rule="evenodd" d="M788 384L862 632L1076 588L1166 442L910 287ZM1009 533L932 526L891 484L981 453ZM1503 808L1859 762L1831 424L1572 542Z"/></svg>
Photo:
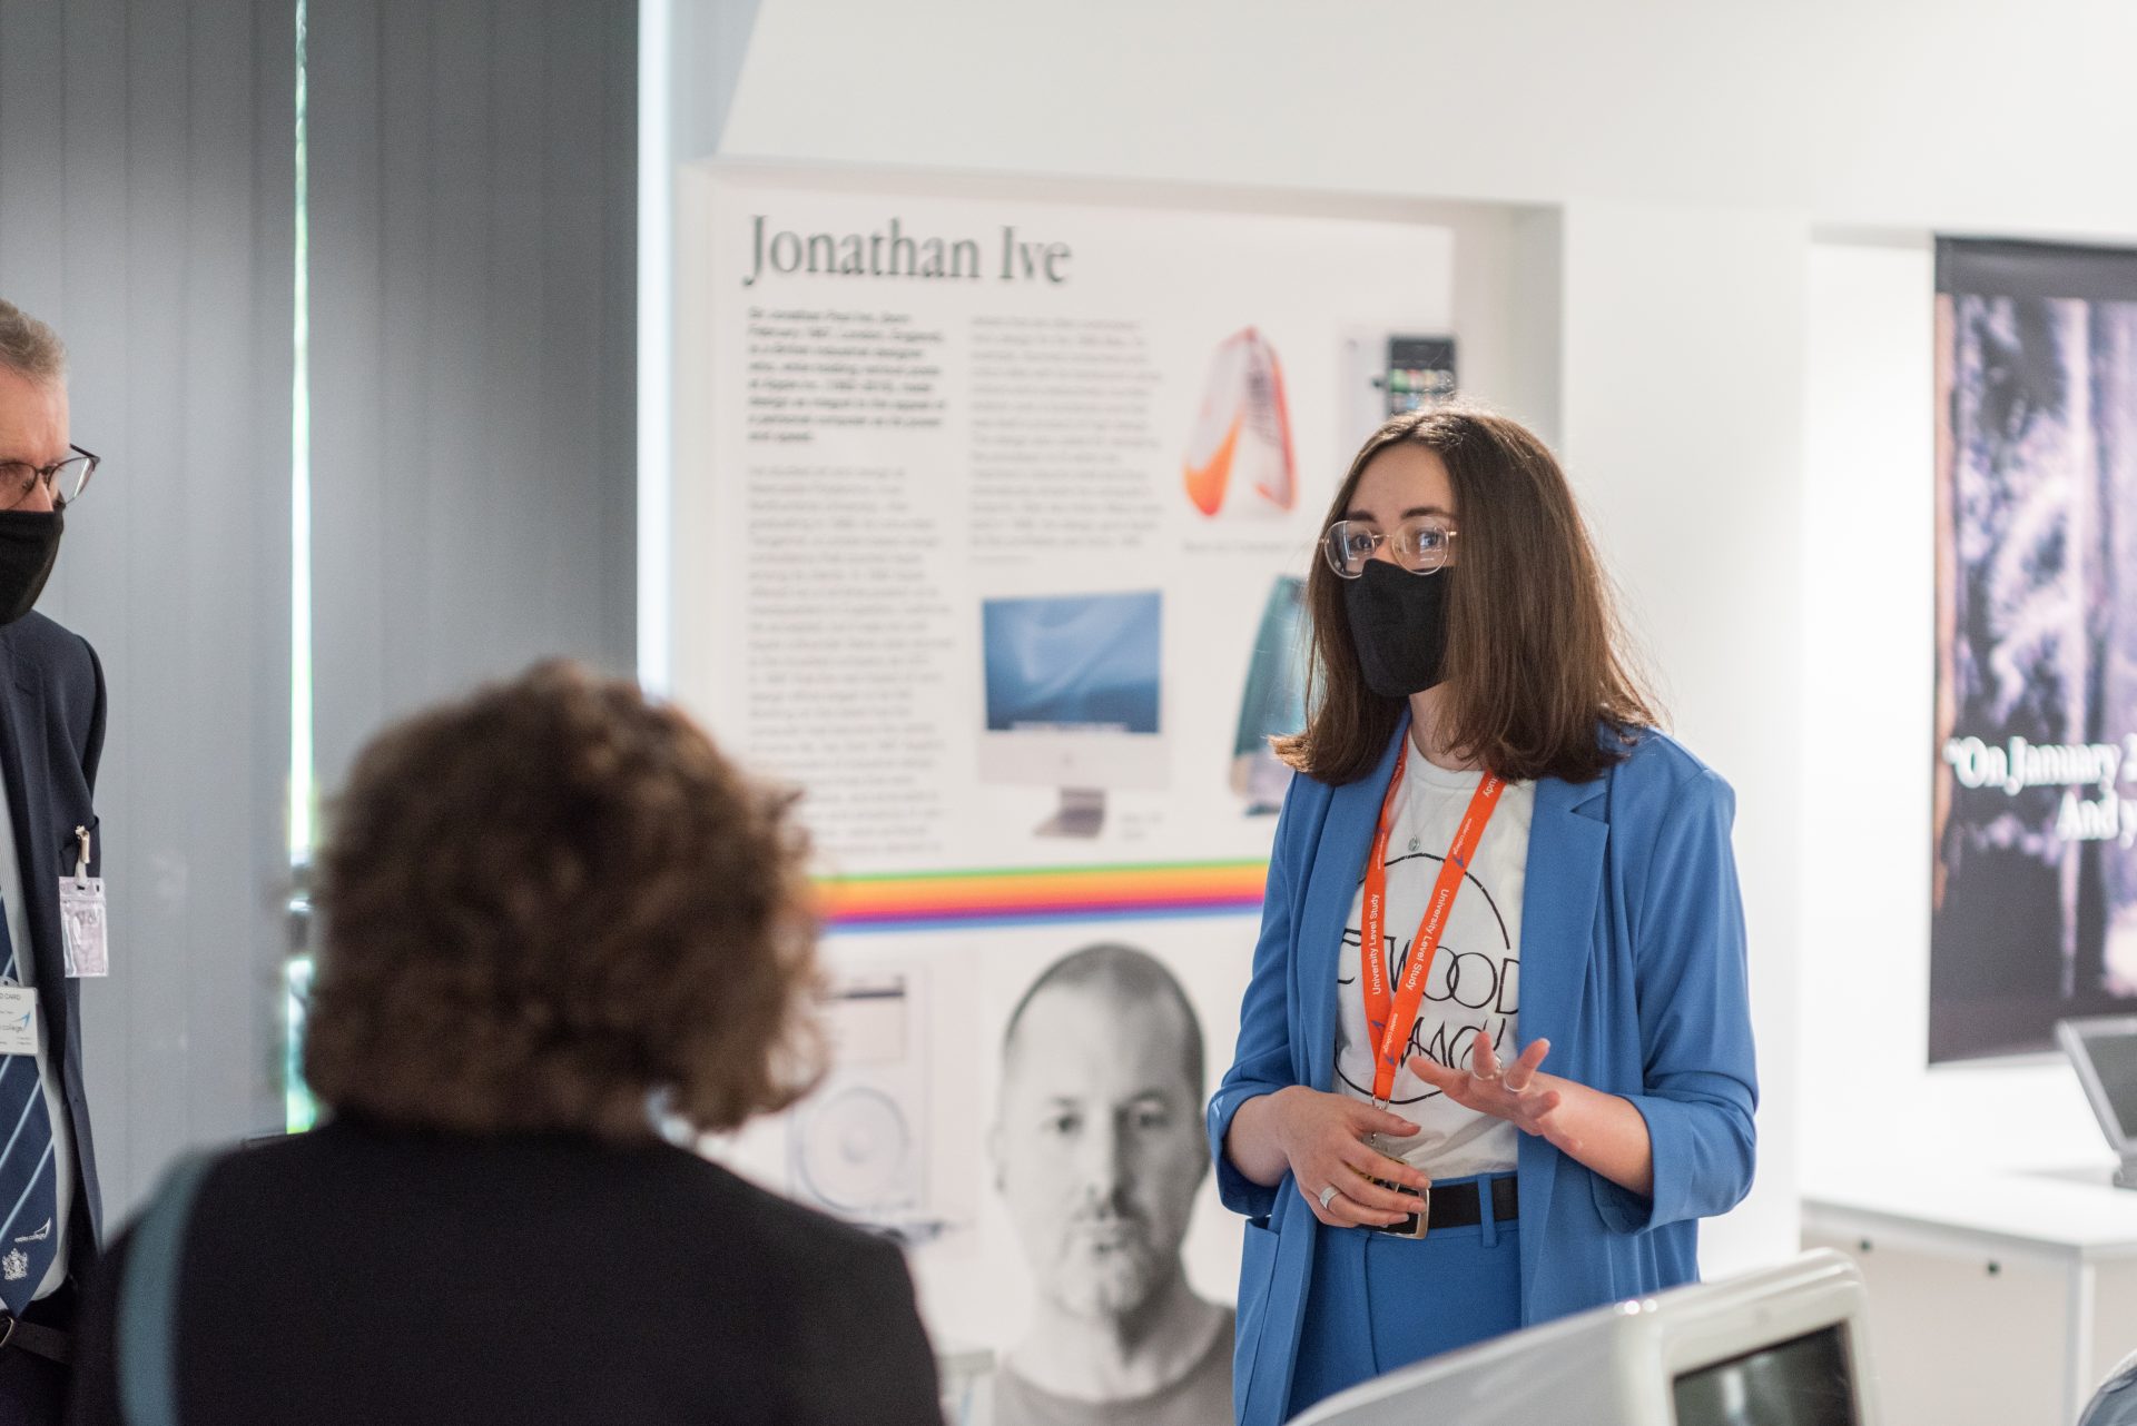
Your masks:
<svg viewBox="0 0 2137 1426"><path fill-rule="evenodd" d="M1269 865L1171 862L1137 867L1039 867L1019 871L917 871L821 877L831 931L932 931L945 926L1045 924L1160 916L1237 916L1261 909Z"/></svg>

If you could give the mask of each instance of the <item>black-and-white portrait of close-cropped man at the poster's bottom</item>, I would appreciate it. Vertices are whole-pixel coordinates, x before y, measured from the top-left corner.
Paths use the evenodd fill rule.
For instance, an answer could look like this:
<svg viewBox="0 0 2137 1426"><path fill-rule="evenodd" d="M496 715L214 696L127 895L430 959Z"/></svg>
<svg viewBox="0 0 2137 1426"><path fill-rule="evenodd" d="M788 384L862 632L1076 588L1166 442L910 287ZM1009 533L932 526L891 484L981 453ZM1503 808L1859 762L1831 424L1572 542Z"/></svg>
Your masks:
<svg viewBox="0 0 2137 1426"><path fill-rule="evenodd" d="M989 1151L1032 1270L998 1426L1229 1426L1233 1313L1180 1259L1210 1172L1203 1033L1163 963L1075 950L1002 1033Z"/></svg>

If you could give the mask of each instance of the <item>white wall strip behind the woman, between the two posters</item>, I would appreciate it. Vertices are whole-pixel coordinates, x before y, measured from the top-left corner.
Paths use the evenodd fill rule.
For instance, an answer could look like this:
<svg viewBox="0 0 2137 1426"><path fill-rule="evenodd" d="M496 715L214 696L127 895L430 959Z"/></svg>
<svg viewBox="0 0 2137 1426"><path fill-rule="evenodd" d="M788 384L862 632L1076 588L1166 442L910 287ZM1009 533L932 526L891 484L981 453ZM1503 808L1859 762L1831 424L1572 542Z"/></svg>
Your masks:
<svg viewBox="0 0 2137 1426"><path fill-rule="evenodd" d="M1571 203L1564 453L1669 724L1737 790L1759 1183L1705 1268L1795 1247L1804 220Z"/></svg>

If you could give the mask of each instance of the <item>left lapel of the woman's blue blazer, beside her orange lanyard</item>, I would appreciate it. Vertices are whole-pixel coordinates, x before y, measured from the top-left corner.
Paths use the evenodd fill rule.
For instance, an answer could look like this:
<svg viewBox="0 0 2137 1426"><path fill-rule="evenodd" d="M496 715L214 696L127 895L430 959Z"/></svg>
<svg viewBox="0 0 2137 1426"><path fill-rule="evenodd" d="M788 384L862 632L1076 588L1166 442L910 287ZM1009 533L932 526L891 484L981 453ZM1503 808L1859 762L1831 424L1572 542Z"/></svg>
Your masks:
<svg viewBox="0 0 2137 1426"><path fill-rule="evenodd" d="M1312 852L1306 877L1306 901L1299 912L1291 956L1295 1003L1301 1033L1293 1042L1293 1072L1299 1084L1329 1091L1336 1084L1336 954L1351 922L1372 852L1372 830L1381 820L1387 779L1395 775L1395 756L1410 736L1410 717L1402 715L1395 736L1381 754L1378 766L1357 781L1329 794L1329 815L1321 824L1321 841Z"/></svg>

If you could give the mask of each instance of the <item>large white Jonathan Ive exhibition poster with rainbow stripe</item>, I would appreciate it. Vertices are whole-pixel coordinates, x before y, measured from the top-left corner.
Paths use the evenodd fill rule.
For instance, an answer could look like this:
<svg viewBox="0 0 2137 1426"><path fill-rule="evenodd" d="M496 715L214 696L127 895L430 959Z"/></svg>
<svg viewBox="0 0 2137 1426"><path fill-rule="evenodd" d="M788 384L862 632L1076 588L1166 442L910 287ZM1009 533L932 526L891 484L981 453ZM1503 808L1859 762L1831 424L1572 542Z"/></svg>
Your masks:
<svg viewBox="0 0 2137 1426"><path fill-rule="evenodd" d="M1451 389L1453 235L731 164L682 196L675 696L801 790L838 978L831 1078L729 1155L904 1238L1000 1392L1077 1379L1077 1324L1203 1351L1304 576L1359 442Z"/></svg>

